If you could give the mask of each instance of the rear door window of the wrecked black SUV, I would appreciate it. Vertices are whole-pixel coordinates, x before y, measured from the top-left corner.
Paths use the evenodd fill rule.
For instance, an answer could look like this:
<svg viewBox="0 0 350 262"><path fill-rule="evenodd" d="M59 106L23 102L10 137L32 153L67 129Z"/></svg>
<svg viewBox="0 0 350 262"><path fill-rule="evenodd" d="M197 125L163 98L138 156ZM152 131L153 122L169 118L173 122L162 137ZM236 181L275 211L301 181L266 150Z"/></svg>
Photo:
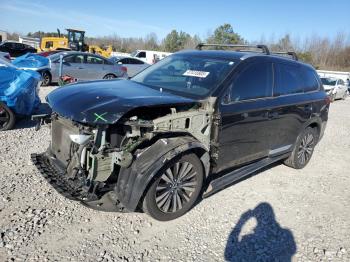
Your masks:
<svg viewBox="0 0 350 262"><path fill-rule="evenodd" d="M292 64L275 64L274 96L291 95L304 92L304 83L299 66Z"/></svg>

